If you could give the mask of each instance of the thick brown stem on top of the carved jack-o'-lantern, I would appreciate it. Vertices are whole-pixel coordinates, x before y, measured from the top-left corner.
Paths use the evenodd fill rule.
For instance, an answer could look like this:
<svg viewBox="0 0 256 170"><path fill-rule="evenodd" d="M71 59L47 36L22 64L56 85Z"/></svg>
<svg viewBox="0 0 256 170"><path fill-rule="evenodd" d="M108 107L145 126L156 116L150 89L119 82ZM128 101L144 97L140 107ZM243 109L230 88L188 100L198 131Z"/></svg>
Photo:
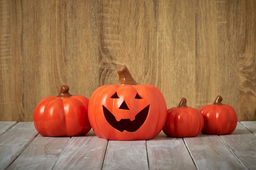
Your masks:
<svg viewBox="0 0 256 170"><path fill-rule="evenodd" d="M117 73L119 75L118 84L132 84L137 85L137 82L132 78L132 75L125 65L117 68Z"/></svg>

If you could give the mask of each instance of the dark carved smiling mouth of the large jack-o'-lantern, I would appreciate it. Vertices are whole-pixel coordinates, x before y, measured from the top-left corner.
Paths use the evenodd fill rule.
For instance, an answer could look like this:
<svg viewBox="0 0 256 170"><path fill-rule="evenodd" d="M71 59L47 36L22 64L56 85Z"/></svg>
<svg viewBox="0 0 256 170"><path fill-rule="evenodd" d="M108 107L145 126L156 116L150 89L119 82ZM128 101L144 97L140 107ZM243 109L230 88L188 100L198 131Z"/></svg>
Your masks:
<svg viewBox="0 0 256 170"><path fill-rule="evenodd" d="M103 106L103 105L102 105ZM136 116L133 121L130 119L121 119L117 121L115 116L105 107L103 106L103 113L108 121L108 123L115 129L124 132L124 130L128 132L135 132L138 130L142 124L144 124L147 116L148 116L149 105L142 109Z"/></svg>

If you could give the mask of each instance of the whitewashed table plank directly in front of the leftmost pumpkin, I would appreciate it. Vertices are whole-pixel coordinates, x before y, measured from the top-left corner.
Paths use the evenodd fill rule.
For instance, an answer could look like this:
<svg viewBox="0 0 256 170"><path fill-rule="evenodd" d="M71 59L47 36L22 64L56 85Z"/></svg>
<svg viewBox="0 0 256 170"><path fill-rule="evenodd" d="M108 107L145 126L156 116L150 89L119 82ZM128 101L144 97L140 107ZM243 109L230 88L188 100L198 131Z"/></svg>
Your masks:
<svg viewBox="0 0 256 170"><path fill-rule="evenodd" d="M69 140L38 135L7 170L51 170Z"/></svg>

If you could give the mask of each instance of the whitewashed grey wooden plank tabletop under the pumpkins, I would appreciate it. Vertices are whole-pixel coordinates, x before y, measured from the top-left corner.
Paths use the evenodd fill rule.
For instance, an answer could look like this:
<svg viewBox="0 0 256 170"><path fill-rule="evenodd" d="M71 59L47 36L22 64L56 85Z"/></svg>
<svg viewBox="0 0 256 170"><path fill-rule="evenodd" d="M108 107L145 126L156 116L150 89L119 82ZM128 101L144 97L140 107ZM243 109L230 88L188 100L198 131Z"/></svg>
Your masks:
<svg viewBox="0 0 256 170"><path fill-rule="evenodd" d="M256 170L256 121L231 135L108 141L42 137L33 122L0 121L0 170Z"/></svg>

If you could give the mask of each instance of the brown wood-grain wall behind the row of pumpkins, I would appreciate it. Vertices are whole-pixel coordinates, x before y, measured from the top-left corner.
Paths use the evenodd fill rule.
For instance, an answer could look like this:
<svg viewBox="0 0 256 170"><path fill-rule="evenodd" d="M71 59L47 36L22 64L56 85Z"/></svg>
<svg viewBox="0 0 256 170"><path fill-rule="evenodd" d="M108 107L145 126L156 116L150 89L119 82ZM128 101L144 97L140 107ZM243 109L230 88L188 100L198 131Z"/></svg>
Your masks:
<svg viewBox="0 0 256 170"><path fill-rule="evenodd" d="M32 121L41 99L90 98L128 66L167 108L212 104L256 120L255 0L0 0L0 121Z"/></svg>

